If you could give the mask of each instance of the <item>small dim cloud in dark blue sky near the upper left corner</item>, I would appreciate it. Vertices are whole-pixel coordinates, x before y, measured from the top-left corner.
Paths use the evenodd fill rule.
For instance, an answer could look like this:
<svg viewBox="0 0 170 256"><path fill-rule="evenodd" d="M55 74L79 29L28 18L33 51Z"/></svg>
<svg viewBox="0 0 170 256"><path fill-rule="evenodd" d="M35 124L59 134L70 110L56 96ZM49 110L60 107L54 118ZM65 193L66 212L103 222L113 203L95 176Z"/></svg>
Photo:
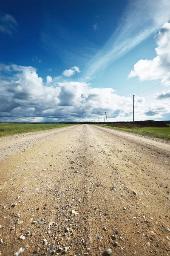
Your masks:
<svg viewBox="0 0 170 256"><path fill-rule="evenodd" d="M17 28L17 21L10 14L5 14L0 17L0 32L12 35Z"/></svg>

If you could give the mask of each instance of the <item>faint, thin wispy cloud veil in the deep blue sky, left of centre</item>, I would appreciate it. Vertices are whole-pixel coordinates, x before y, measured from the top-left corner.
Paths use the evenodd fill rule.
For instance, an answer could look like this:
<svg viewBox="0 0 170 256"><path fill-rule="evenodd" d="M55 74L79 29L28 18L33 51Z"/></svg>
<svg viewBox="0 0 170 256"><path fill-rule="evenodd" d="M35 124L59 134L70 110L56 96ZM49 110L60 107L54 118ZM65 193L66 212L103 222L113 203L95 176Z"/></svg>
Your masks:
<svg viewBox="0 0 170 256"><path fill-rule="evenodd" d="M65 64L76 62L81 67L85 67L99 50L79 32L59 26L51 17L47 18L41 31L41 42L45 50L60 57Z"/></svg>

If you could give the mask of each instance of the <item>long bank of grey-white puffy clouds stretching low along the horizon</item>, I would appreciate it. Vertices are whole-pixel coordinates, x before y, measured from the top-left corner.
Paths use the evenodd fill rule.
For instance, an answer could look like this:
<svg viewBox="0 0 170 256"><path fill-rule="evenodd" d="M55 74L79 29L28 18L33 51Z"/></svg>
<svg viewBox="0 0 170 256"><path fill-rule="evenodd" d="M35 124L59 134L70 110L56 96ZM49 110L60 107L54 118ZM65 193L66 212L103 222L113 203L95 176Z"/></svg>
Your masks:
<svg viewBox="0 0 170 256"><path fill-rule="evenodd" d="M92 88L89 83L62 81L47 76L47 86L34 67L0 64L0 121L45 122L84 120L105 111L109 120L132 120L131 97L119 96L113 88ZM6 73L10 73L6 77ZM168 102L147 104L136 97L135 118L154 119L170 112Z"/></svg>

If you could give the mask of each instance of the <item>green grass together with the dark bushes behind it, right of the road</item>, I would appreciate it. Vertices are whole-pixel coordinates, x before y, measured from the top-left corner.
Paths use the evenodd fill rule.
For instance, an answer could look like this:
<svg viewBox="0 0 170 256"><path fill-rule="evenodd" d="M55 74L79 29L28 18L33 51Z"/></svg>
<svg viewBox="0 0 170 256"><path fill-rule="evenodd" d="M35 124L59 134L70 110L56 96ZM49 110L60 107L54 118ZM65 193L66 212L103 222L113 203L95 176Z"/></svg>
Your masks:
<svg viewBox="0 0 170 256"><path fill-rule="evenodd" d="M133 124L113 124L113 125L99 125L106 128L111 128L115 130L120 131L127 131L132 132L136 134L143 134L150 137L156 137L161 138L165 140L170 140L170 125L167 125L167 127L140 127L140 125L135 125L133 127Z"/></svg>

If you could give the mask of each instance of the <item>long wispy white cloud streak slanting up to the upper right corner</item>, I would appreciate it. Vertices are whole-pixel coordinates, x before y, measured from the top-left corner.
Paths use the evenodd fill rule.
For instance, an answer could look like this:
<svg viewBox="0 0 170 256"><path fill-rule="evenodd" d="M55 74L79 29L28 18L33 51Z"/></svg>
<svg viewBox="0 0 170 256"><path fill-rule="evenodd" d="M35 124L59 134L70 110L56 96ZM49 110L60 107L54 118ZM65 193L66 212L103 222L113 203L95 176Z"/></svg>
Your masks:
<svg viewBox="0 0 170 256"><path fill-rule="evenodd" d="M88 63L85 77L96 76L100 70L157 32L169 19L169 0L130 0L120 25L105 46Z"/></svg>

